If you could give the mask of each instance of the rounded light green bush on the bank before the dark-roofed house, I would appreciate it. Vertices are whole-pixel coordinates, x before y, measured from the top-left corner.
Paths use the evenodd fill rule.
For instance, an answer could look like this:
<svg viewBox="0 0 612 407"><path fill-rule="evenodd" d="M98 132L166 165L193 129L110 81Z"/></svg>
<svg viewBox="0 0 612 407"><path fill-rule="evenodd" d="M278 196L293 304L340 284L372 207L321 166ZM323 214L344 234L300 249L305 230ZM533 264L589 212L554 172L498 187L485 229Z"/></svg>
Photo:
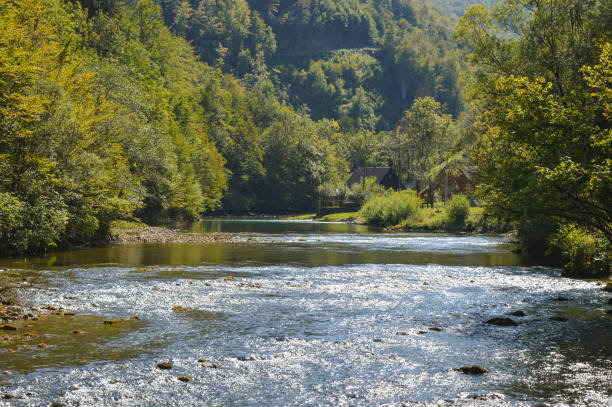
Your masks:
<svg viewBox="0 0 612 407"><path fill-rule="evenodd" d="M368 199L361 208L361 216L371 225L395 226L414 219L420 205L414 191L389 192Z"/></svg>

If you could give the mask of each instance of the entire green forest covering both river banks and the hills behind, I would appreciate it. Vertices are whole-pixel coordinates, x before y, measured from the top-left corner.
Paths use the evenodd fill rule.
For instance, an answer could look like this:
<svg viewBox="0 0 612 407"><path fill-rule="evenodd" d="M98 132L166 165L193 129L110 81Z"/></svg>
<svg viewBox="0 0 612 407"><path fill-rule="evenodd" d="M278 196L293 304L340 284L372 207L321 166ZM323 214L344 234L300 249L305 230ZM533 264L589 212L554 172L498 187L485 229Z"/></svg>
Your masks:
<svg viewBox="0 0 612 407"><path fill-rule="evenodd" d="M609 4L472 3L0 0L0 250L469 165L526 248L609 252Z"/></svg>

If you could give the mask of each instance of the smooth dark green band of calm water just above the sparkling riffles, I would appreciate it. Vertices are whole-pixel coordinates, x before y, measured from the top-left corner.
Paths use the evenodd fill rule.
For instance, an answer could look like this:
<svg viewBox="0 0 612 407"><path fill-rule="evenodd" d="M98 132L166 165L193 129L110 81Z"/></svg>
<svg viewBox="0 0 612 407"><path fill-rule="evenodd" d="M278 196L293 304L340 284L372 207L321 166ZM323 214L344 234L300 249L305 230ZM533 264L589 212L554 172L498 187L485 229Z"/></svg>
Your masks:
<svg viewBox="0 0 612 407"><path fill-rule="evenodd" d="M273 265L293 264L307 267L347 264L442 264L471 266L522 265L521 256L499 252L419 252L379 250L343 244L271 243L167 243L134 244L51 253L28 259L0 260L0 267L66 268L100 265L197 266L197 265Z"/></svg>

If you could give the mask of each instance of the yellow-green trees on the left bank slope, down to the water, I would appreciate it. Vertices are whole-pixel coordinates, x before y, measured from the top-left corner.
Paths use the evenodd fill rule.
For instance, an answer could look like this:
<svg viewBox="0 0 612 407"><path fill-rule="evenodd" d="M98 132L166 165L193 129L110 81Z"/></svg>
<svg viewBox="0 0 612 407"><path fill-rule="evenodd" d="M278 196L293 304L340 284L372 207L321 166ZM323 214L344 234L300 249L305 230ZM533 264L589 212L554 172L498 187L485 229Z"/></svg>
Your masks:
<svg viewBox="0 0 612 407"><path fill-rule="evenodd" d="M4 252L86 242L134 216L311 209L347 171L334 122L296 114L265 78L247 90L199 62L152 1L2 0L0 27Z"/></svg>

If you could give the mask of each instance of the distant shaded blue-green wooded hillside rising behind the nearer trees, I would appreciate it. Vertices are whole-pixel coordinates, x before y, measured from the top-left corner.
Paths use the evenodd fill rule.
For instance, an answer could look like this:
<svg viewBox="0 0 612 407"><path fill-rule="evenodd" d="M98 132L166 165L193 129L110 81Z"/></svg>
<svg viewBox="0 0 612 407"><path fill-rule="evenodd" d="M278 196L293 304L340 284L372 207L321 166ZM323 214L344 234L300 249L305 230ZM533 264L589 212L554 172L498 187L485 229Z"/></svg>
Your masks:
<svg viewBox="0 0 612 407"><path fill-rule="evenodd" d="M342 130L388 130L415 98L462 109L451 20L414 0L161 0L207 63L269 75L279 94Z"/></svg>

